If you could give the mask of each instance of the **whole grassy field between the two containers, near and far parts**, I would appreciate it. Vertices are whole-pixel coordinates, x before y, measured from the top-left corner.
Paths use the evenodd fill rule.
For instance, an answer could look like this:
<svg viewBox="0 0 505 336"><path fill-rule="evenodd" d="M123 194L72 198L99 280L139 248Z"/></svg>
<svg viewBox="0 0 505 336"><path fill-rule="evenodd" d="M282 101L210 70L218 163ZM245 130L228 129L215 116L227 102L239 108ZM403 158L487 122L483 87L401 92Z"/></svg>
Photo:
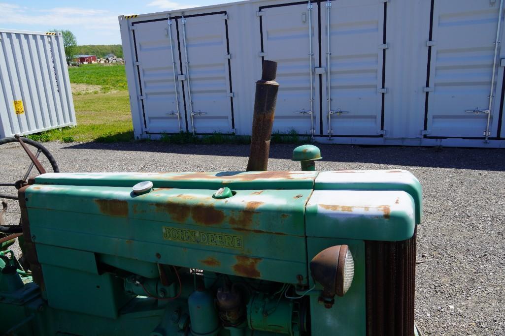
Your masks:
<svg viewBox="0 0 505 336"><path fill-rule="evenodd" d="M124 65L89 64L69 68L76 127L50 130L28 137L36 141L131 141L133 127ZM90 86L91 92L84 89ZM79 90L82 90L80 92Z"/></svg>

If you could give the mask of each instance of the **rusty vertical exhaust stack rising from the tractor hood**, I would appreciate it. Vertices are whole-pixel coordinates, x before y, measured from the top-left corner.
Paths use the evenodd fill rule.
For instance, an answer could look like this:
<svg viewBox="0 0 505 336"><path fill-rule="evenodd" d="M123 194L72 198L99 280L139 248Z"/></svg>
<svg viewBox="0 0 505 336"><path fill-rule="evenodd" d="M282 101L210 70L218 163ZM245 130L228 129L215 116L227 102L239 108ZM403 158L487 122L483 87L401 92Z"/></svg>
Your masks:
<svg viewBox="0 0 505 336"><path fill-rule="evenodd" d="M263 61L261 79L256 82L248 172L267 170L275 104L279 91L279 83L275 81L276 75L277 62Z"/></svg>

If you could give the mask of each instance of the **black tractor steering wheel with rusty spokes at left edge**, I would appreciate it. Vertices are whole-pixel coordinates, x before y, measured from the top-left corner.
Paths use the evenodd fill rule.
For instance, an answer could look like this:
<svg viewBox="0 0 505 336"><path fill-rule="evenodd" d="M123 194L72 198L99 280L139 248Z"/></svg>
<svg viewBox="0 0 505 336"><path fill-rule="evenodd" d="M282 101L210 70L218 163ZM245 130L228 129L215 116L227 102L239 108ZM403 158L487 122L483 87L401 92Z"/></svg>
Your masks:
<svg viewBox="0 0 505 336"><path fill-rule="evenodd" d="M28 170L26 171L25 175L20 180L17 180L13 183L0 183L0 187L14 187L16 189L20 189L21 187L26 186L28 184L28 178L30 177L33 167L35 167L35 169L38 171L39 174L45 174L46 171L42 166L42 164L40 163L40 161L38 160L40 154L44 155L47 158L47 161L51 165L51 169L53 170L53 172L55 173L60 172L60 169L58 168L58 164L56 163L54 156L47 150L47 148L42 146L42 144L28 138L20 137L17 134L14 137L0 139L0 146L9 143L19 143L26 152L26 154L30 157L31 163L28 166ZM35 154L33 153L34 149L36 150ZM0 199L2 198L18 200L17 195L7 195L0 193ZM23 232L21 223L20 225L6 225L3 217L3 214L6 211L7 211L7 202L2 201L2 208L0 208L0 232L7 234L15 234Z"/></svg>

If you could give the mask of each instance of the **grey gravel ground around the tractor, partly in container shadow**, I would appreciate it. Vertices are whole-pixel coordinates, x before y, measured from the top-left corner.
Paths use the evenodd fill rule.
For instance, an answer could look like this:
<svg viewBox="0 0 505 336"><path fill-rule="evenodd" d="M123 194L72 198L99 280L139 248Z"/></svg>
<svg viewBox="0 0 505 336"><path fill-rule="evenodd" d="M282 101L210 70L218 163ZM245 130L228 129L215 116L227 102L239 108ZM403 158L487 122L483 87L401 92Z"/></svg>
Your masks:
<svg viewBox="0 0 505 336"><path fill-rule="evenodd" d="M241 171L248 146L46 143L62 172ZM4 148L5 147L5 148ZM10 148L8 148L10 147ZM271 148L269 170L298 170L294 145ZM318 170L406 169L424 191L416 321L424 334L504 335L505 150L320 145ZM0 183L28 166L0 147ZM23 167L20 169L20 167ZM0 189L1 190L1 189ZM19 219L15 202L7 215Z"/></svg>

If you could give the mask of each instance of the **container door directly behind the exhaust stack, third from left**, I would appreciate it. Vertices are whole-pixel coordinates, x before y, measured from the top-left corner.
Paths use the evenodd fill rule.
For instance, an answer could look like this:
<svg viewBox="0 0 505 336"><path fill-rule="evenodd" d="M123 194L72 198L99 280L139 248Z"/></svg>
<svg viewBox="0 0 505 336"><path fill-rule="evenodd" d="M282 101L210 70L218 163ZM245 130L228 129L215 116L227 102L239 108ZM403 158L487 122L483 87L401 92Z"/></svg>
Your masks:
<svg viewBox="0 0 505 336"><path fill-rule="evenodd" d="M317 6L260 8L261 55L278 63L274 133L320 133L319 76L314 71L319 66Z"/></svg>

